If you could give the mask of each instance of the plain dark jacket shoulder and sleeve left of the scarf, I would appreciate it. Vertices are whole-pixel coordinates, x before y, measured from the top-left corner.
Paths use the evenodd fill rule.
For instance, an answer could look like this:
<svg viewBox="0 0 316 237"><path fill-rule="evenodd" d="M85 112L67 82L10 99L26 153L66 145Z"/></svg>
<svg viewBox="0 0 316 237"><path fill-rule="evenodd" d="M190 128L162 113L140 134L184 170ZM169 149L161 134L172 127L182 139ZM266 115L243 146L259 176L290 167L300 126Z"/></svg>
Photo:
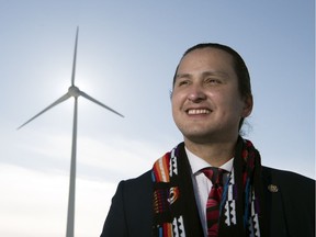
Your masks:
<svg viewBox="0 0 316 237"><path fill-rule="evenodd" d="M151 227L150 171L119 183L106 216L104 236L149 236ZM135 215L136 214L136 215ZM139 223L144 228L139 229Z"/></svg>

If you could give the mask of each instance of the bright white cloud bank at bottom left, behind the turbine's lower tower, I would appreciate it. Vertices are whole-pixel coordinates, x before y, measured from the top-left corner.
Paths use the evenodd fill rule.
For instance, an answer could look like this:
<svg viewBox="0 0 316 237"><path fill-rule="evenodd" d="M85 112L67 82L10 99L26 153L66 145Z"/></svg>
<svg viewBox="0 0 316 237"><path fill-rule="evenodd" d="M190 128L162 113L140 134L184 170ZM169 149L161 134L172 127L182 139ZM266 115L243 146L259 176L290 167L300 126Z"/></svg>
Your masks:
<svg viewBox="0 0 316 237"><path fill-rule="evenodd" d="M2 165L0 189L0 236L65 236L68 177ZM111 182L77 179L76 236L100 235L115 189Z"/></svg>

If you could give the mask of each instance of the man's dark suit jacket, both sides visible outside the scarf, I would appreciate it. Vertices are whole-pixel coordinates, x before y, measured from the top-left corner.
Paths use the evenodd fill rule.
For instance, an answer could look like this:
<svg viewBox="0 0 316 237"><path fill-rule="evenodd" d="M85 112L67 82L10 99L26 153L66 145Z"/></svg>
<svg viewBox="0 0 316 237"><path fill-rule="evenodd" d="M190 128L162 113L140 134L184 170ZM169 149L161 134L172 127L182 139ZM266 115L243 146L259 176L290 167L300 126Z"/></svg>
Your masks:
<svg viewBox="0 0 316 237"><path fill-rule="evenodd" d="M136 179L120 182L101 237L151 236L150 176L148 171ZM263 167L262 182L269 237L314 237L315 181L290 171ZM269 190L270 184L274 187Z"/></svg>

